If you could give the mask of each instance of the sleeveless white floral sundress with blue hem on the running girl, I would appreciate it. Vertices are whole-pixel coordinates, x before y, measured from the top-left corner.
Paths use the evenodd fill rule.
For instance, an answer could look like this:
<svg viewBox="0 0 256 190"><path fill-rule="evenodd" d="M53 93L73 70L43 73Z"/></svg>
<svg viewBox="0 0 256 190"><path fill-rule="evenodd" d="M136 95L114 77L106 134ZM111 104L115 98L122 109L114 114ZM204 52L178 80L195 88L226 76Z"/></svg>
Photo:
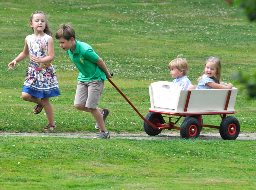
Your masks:
<svg viewBox="0 0 256 190"><path fill-rule="evenodd" d="M48 55L49 35L34 38L33 34L26 37L29 57L37 56L40 59ZM54 97L60 95L55 69L51 63L34 63L28 65L23 92L38 98Z"/></svg>

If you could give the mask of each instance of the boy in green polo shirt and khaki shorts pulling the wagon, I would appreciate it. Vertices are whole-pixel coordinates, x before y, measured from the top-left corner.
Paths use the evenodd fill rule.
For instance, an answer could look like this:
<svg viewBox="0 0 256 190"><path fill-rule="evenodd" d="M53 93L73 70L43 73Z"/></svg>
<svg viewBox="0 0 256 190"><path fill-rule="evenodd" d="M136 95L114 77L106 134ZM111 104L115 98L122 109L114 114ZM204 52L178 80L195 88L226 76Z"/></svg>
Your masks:
<svg viewBox="0 0 256 190"><path fill-rule="evenodd" d="M98 108L104 81L107 77L111 78L107 66L91 46L76 40L75 30L70 24L61 25L55 37L80 71L75 96L76 109L90 112L94 117L95 128L100 129L100 133L93 138L110 138L105 128L109 109Z"/></svg>

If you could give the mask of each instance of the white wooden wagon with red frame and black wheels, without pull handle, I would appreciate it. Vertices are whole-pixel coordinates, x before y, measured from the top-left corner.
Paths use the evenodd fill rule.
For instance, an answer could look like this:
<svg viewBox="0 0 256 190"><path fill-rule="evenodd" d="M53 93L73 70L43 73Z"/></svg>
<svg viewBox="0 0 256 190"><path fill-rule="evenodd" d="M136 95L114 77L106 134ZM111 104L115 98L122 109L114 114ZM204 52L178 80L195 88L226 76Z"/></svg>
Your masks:
<svg viewBox="0 0 256 190"><path fill-rule="evenodd" d="M172 82L151 83L149 86L151 108L145 116L143 128L148 135L158 135L163 129L177 129L180 130L182 138L197 138L202 127L210 127L219 129L220 136L224 140L235 140L240 132L240 124L235 117L226 115L235 113L237 92L238 89L235 87L182 90ZM202 115L220 115L222 121L219 126L204 124ZM183 117L180 127L175 126ZM173 119L174 122L171 121Z"/></svg>

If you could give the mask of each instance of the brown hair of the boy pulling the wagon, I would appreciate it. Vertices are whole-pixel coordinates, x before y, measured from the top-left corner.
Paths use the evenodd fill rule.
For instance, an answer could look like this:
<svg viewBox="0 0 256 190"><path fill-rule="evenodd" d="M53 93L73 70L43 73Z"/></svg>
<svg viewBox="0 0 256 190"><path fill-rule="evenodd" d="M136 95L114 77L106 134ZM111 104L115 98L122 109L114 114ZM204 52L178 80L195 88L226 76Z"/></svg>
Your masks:
<svg viewBox="0 0 256 190"><path fill-rule="evenodd" d="M62 24L62 25L60 25L58 31L56 32L55 38L57 40L60 38L64 38L65 40L68 40L68 41L71 38L76 40L76 33L70 24Z"/></svg>

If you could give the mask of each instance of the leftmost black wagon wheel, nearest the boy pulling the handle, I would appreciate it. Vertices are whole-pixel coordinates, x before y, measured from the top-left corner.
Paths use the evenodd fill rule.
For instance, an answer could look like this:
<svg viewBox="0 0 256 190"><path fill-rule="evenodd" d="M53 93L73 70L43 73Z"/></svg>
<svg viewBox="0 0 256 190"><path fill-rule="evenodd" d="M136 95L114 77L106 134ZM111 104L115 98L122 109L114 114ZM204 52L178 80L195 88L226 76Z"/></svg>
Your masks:
<svg viewBox="0 0 256 190"><path fill-rule="evenodd" d="M145 116L145 119L152 124L156 125L157 123L164 124L163 118L161 114L158 113L147 113ZM161 133L162 129L153 129L151 125L149 125L147 122L143 121L143 128L144 131L151 136L155 136Z"/></svg>

